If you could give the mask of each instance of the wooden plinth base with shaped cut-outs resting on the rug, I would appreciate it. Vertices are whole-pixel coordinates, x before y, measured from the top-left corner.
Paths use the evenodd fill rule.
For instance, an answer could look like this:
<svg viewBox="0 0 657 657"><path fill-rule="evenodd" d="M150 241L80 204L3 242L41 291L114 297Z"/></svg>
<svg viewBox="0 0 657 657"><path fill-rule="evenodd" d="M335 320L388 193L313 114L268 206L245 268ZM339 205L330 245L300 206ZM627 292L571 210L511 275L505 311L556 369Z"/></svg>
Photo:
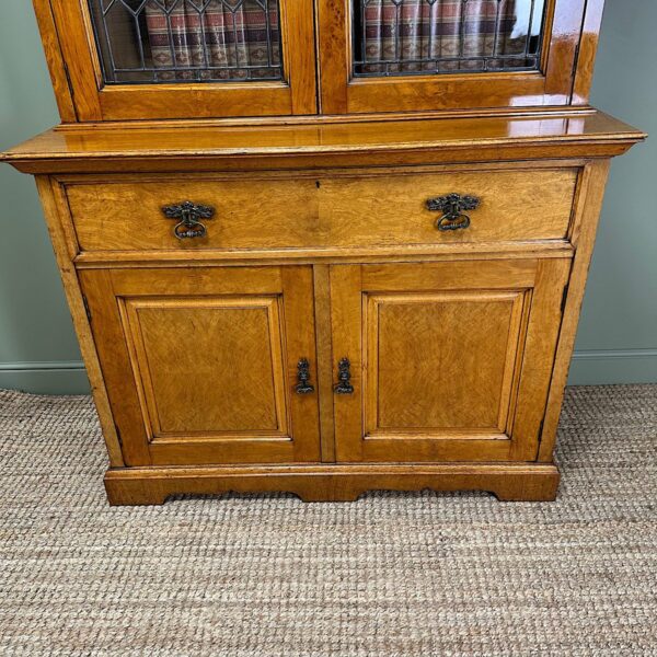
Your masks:
<svg viewBox="0 0 657 657"><path fill-rule="evenodd" d="M303 502L355 502L368 491L480 491L502 502L552 502L551 463L413 465L376 463L120 468L105 474L112 506L160 505L172 495L291 493Z"/></svg>

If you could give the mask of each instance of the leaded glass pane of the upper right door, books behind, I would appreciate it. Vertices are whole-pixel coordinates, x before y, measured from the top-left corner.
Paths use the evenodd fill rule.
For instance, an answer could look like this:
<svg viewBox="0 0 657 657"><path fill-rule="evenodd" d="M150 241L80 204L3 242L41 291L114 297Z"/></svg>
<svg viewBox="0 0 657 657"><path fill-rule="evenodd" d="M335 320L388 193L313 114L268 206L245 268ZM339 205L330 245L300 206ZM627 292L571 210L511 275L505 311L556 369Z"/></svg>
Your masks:
<svg viewBox="0 0 657 657"><path fill-rule="evenodd" d="M545 0L353 0L356 77L537 70Z"/></svg>

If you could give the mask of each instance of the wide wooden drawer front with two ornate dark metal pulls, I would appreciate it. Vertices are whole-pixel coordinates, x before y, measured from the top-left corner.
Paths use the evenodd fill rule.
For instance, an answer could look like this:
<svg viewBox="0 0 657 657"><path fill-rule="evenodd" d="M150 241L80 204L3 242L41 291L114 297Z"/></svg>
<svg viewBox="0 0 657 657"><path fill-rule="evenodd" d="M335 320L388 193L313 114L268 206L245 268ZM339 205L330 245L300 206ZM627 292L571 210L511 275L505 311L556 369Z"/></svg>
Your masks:
<svg viewBox="0 0 657 657"><path fill-rule="evenodd" d="M67 196L82 251L435 245L563 240L576 181L576 169L168 182L137 176L71 183ZM460 198L450 203L450 194ZM181 224L181 208L165 216L164 206L183 201L211 208L211 218L192 216L207 233L191 221Z"/></svg>

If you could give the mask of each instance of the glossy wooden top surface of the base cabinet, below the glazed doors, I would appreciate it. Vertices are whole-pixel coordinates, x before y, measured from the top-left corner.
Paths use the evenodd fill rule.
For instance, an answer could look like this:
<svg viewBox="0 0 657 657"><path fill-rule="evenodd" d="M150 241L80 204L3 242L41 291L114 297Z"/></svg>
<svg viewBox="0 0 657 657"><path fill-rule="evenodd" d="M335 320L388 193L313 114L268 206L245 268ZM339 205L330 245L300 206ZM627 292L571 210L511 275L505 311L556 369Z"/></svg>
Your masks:
<svg viewBox="0 0 657 657"><path fill-rule="evenodd" d="M358 155L387 152L439 151L445 158L457 151L476 154L480 149L607 145L616 149L596 155L620 154L646 135L601 112L545 114L540 117L492 116L486 118L424 118L387 122L324 122L293 125L119 125L61 126L1 153L16 168L47 172L50 162L145 161L211 158L274 158ZM583 153L580 153L583 154ZM496 159L492 152L488 158ZM537 153L535 157L540 157ZM443 161L448 161L440 158ZM472 161L471 158L468 158ZM458 161L458 158L453 161ZM32 165L32 168L31 168ZM246 166L249 168L249 166ZM126 169L129 165L126 164ZM154 168L157 169L157 166Z"/></svg>

